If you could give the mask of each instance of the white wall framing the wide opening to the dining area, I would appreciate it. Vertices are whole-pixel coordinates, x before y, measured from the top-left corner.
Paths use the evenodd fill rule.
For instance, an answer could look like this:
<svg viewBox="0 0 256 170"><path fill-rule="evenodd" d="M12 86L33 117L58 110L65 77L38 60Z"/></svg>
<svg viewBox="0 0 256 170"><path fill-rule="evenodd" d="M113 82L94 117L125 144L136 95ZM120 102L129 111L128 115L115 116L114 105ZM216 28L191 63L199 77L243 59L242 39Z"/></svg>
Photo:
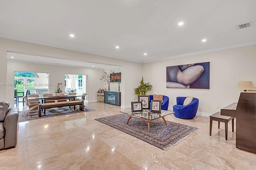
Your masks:
<svg viewBox="0 0 256 170"><path fill-rule="evenodd" d="M66 50L66 49L61 49L56 47L49 47L45 45L38 45L34 43L10 40L6 38L0 38L0 60L1 60L0 83L6 83L7 81L7 78L6 78L7 52L23 53L23 54L29 54L29 55L35 55L35 56L42 56L42 57L52 57L52 58L68 59L68 60L74 60L74 61L84 61L84 62L90 62L90 63L122 66L121 107L130 107L130 102L136 98L134 96L134 88L138 86L141 79L140 75L142 75L142 67L143 67L142 63L126 61L122 59L115 59L111 57L105 57L105 56L83 53L78 51ZM55 67L55 66L52 66L52 67ZM64 73L67 73L67 72L64 71L63 74ZM74 73L74 74L77 74L77 73ZM138 75L138 76L134 76L134 75ZM51 78L51 75L50 75L50 78ZM57 77L57 78L61 79L61 77ZM99 86L96 85L96 83L98 83L99 81L99 78L100 77L95 78L96 81L94 82L94 85L97 87L97 91L98 91L98 87L103 85L102 82L100 82ZM90 77L88 79L90 80ZM62 83L64 83L64 78L62 79L62 81L63 81ZM89 88L90 88L90 85L89 85ZM10 100L10 94L12 93L13 92L11 91L7 91L6 86L1 86L0 101Z"/></svg>

